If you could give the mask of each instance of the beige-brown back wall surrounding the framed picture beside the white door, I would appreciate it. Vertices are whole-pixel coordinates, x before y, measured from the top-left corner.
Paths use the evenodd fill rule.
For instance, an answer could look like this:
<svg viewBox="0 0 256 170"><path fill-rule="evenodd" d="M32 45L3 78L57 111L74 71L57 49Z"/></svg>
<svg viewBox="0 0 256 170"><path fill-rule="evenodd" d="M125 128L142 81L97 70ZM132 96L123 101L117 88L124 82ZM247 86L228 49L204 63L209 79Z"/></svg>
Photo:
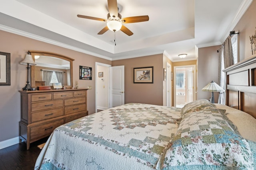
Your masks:
<svg viewBox="0 0 256 170"><path fill-rule="evenodd" d="M163 105L163 54L112 61L124 65L125 103ZM133 68L154 66L154 83L133 83Z"/></svg>

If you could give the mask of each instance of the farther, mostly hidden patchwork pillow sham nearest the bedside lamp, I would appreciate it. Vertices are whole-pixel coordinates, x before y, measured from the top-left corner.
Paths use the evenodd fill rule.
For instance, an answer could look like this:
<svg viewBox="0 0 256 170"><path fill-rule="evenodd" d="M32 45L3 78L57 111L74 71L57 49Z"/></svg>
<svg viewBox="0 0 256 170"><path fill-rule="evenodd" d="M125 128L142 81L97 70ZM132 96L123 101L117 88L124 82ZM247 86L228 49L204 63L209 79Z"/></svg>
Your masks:
<svg viewBox="0 0 256 170"><path fill-rule="evenodd" d="M186 104L180 111L181 117L183 117L187 113L193 113L195 111L200 111L208 107L216 107L216 105L211 104L206 99L196 100Z"/></svg>

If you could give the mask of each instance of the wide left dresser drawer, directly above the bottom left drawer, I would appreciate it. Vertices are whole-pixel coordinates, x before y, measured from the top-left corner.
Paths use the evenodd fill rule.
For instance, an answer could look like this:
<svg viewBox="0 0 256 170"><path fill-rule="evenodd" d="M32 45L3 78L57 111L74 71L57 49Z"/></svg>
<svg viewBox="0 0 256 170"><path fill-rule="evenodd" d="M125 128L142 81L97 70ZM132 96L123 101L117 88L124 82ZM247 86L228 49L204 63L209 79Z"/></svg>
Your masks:
<svg viewBox="0 0 256 170"><path fill-rule="evenodd" d="M50 119L63 115L63 108L51 109L32 113L32 122Z"/></svg>

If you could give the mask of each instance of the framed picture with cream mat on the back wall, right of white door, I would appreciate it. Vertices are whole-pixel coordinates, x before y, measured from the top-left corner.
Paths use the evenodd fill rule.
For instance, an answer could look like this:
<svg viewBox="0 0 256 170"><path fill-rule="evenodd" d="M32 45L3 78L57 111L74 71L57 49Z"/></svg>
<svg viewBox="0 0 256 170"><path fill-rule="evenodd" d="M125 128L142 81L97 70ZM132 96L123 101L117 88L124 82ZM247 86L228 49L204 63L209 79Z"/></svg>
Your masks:
<svg viewBox="0 0 256 170"><path fill-rule="evenodd" d="M153 66L133 68L133 83L153 83Z"/></svg>

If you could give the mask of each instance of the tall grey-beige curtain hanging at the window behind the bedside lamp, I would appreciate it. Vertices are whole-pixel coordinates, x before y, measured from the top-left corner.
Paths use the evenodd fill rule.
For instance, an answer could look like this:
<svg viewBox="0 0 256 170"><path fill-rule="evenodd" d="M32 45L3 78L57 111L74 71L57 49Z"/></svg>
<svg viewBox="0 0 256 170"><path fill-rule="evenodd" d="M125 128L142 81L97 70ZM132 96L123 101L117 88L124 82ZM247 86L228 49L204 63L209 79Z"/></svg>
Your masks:
<svg viewBox="0 0 256 170"><path fill-rule="evenodd" d="M231 43L230 36L228 36L228 38L221 45L219 51L220 51L219 82L220 82L220 87L222 87L225 90L225 73L222 70L224 70L225 68L228 68L229 66L232 66L234 64L234 56L233 56L233 49L232 49L232 43ZM224 93L219 94L218 103L225 104L224 103Z"/></svg>

